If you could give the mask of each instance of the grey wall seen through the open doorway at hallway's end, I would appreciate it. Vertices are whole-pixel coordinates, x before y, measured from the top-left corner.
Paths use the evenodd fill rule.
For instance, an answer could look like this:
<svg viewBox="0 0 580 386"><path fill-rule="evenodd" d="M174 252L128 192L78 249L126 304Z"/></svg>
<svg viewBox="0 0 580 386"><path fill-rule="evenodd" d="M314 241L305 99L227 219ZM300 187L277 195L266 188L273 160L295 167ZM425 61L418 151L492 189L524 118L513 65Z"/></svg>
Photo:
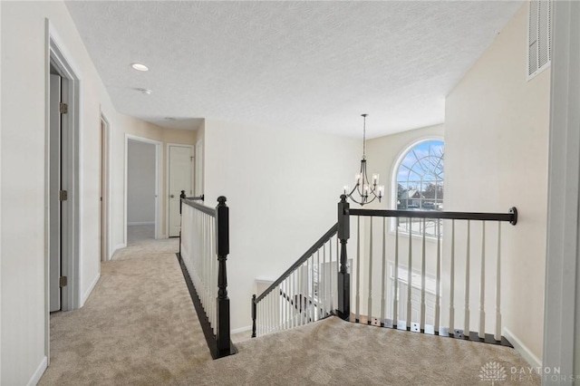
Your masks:
<svg viewBox="0 0 580 386"><path fill-rule="evenodd" d="M155 145L129 140L127 224L155 223Z"/></svg>

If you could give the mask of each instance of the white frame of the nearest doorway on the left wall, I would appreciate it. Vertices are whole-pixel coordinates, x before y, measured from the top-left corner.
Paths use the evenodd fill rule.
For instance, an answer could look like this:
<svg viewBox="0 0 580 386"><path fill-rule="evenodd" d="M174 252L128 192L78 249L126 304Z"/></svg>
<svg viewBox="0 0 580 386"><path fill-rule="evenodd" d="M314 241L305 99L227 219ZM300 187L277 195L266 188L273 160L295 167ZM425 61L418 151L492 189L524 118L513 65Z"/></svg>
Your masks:
<svg viewBox="0 0 580 386"><path fill-rule="evenodd" d="M79 170L81 169L82 142L82 73L78 66L71 60L63 39L54 29L49 19L45 19L45 63L44 63L44 277L45 283L45 343L44 351L50 363L50 72L51 63L60 73L63 79L67 79L68 113L63 117L66 120L69 154L68 162L63 165L66 177L69 180L67 213L67 227L63 229L67 242L62 250L62 275L67 276L68 284L62 290L63 311L74 310L81 306L81 275L80 275L80 240L82 224L80 221L80 208L82 204L82 181Z"/></svg>

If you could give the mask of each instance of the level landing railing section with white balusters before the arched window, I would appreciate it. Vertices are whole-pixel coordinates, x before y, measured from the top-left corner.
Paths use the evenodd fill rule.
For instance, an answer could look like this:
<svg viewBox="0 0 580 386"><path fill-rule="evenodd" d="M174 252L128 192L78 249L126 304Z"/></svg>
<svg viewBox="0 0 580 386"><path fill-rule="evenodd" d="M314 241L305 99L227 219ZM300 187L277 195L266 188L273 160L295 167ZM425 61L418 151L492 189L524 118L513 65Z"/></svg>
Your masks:
<svg viewBox="0 0 580 386"><path fill-rule="evenodd" d="M339 291L354 307L339 302L345 319L509 345L501 336L501 223L517 224L515 207L509 213L351 209L343 196L343 245L351 220L354 293ZM342 253L341 262L346 248Z"/></svg>

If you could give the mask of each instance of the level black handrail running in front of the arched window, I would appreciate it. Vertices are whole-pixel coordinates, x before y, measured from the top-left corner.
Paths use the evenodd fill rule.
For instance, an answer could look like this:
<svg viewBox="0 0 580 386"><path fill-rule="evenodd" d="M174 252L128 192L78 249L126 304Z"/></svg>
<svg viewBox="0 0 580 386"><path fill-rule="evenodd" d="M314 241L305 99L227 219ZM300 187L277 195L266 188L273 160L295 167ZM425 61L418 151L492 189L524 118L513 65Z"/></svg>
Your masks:
<svg viewBox="0 0 580 386"><path fill-rule="evenodd" d="M439 212L436 210L378 210L378 209L348 209L350 216L369 217L409 217L436 218L455 220L507 221L517 224L517 208L511 207L509 213L477 213L477 212Z"/></svg>

